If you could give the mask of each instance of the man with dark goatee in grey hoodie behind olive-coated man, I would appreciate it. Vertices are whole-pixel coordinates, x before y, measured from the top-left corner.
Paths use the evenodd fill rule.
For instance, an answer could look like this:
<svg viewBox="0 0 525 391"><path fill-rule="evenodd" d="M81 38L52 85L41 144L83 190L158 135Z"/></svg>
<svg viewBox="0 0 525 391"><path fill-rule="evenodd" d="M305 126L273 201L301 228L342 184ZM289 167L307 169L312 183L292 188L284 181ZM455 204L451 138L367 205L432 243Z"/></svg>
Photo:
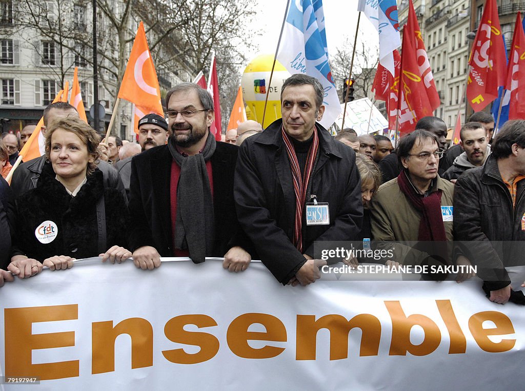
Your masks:
<svg viewBox="0 0 525 391"><path fill-rule="evenodd" d="M487 132L481 123L467 122L463 125L459 132L459 144L465 152L456 157L454 164L441 177L454 183L469 168L484 165L490 154L487 137Z"/></svg>

